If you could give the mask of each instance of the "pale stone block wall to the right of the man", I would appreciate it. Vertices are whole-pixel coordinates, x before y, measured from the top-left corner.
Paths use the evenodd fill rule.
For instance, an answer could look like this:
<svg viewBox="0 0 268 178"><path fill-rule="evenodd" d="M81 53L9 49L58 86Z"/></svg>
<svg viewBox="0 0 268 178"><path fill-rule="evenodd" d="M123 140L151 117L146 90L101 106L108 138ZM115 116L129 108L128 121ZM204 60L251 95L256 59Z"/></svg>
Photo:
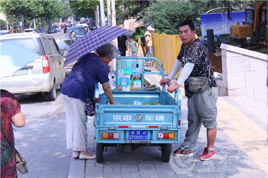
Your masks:
<svg viewBox="0 0 268 178"><path fill-rule="evenodd" d="M245 95L254 101L267 101L268 55L223 43L221 49L219 95Z"/></svg>

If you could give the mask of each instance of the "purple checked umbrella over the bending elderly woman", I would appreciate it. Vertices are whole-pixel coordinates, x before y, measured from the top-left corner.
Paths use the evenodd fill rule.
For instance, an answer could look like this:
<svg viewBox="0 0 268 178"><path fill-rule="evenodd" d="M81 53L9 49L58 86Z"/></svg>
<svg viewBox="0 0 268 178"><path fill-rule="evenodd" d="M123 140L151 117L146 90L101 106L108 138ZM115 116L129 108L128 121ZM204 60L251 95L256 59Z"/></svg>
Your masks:
<svg viewBox="0 0 268 178"><path fill-rule="evenodd" d="M67 64L80 59L82 56L90 53L98 47L109 43L116 37L128 32L126 29L115 27L115 26L104 26L98 28L92 32L87 33L78 39L68 51L64 66Z"/></svg>

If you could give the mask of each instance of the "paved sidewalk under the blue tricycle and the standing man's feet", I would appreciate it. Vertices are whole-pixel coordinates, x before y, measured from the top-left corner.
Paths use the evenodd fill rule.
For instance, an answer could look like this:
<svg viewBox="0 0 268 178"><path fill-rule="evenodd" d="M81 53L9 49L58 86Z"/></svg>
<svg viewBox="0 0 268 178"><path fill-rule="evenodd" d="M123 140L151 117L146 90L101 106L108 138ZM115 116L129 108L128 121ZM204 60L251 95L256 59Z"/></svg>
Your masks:
<svg viewBox="0 0 268 178"><path fill-rule="evenodd" d="M153 69L153 68L151 68ZM146 77L151 84L159 86L158 75ZM180 89L184 95L184 88ZM181 140L187 130L187 98L182 97ZM250 103L243 103L243 102ZM196 155L189 159L171 157L170 162L161 161L157 147L139 147L134 151L126 147L108 147L104 163L95 160L71 161L69 178L158 178L158 177L236 177L267 178L268 144L267 124L263 112L267 105L255 106L255 102L240 97L219 97L218 132L215 141L216 157L200 161L206 146L206 128L201 127ZM260 113L262 112L262 113ZM267 119L267 117L266 117ZM265 120L266 121L266 120ZM93 119L88 120L88 150L95 152ZM175 149L179 144L172 144Z"/></svg>

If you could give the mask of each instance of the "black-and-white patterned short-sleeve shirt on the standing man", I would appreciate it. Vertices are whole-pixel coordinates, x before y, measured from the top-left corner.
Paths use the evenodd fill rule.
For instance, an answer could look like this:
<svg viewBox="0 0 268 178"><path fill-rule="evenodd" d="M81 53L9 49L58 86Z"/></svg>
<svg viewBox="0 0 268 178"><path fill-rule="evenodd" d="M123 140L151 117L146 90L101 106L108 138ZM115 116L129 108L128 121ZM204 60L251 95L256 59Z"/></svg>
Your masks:
<svg viewBox="0 0 268 178"><path fill-rule="evenodd" d="M189 48L186 48L186 45L182 44L177 59L182 62L182 67L184 67L187 62L195 64L189 77L208 77L210 70L209 85L210 87L217 87L208 51L206 50L204 43L200 41L200 39L195 39ZM184 88L186 97L191 98L193 92L189 90L187 80L185 80L184 82Z"/></svg>

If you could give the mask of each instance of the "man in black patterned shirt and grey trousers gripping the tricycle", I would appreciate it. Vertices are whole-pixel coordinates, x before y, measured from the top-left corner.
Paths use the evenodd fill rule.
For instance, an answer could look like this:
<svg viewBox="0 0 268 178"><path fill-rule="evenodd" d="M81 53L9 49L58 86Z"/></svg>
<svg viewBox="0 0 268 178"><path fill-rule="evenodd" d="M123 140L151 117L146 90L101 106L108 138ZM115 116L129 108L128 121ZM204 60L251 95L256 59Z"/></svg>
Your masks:
<svg viewBox="0 0 268 178"><path fill-rule="evenodd" d="M185 140L180 147L173 151L173 155L191 157L197 147L197 138L201 125L207 128L207 146L200 160L211 160L215 157L214 142L217 134L217 85L211 68L208 52L205 45L197 38L191 20L184 20L178 24L179 37L182 41L181 50L168 78L160 80L160 85L170 82L183 67L176 83L168 87L171 93L184 82L185 95L188 98L188 129ZM210 72L209 72L210 70ZM209 76L210 73L210 76ZM202 93L193 93L189 90L188 77L209 77L209 87Z"/></svg>

